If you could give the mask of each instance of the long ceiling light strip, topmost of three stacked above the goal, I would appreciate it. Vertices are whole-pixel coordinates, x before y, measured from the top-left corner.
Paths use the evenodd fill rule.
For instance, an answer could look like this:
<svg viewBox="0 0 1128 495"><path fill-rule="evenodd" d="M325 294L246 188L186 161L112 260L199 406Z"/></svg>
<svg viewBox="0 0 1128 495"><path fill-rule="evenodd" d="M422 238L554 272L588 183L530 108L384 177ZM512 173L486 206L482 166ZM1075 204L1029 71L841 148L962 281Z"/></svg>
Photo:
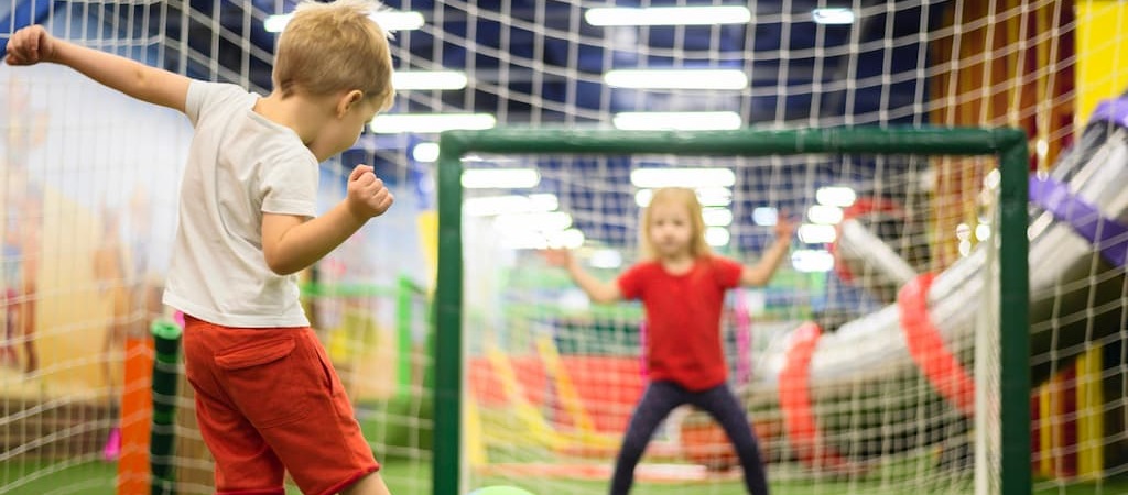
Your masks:
<svg viewBox="0 0 1128 495"><path fill-rule="evenodd" d="M752 20L748 7L649 7L594 8L583 18L592 26L711 26L747 24Z"/></svg>

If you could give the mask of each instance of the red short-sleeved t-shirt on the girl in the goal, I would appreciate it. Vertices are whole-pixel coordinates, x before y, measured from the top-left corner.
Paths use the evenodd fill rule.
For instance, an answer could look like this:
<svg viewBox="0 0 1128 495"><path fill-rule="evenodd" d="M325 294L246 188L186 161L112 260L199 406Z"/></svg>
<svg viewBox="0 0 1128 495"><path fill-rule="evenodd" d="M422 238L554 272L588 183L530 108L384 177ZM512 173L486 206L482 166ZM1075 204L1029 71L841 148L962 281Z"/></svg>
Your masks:
<svg viewBox="0 0 1128 495"><path fill-rule="evenodd" d="M619 275L626 299L646 309L646 364L651 380L670 380L689 390L705 390L728 379L721 347L724 292L740 284L743 266L712 256L698 259L681 275L659 262L643 262Z"/></svg>

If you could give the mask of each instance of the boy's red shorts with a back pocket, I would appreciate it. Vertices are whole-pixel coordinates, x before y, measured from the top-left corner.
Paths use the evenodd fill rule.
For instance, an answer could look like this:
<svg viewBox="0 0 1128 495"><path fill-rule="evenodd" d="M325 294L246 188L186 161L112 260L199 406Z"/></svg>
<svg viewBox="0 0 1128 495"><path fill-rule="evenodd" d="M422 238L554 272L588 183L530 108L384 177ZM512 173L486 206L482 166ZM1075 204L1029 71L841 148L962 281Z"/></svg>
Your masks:
<svg viewBox="0 0 1128 495"><path fill-rule="evenodd" d="M221 495L341 492L380 468L309 327L231 328L185 316L196 421Z"/></svg>

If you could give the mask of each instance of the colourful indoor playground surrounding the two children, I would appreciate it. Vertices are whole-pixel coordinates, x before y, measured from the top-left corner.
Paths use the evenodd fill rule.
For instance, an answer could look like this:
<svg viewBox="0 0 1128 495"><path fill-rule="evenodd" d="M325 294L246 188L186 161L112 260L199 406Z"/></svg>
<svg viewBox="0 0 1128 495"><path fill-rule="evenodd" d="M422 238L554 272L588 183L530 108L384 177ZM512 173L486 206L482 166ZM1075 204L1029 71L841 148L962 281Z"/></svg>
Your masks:
<svg viewBox="0 0 1128 495"><path fill-rule="evenodd" d="M677 186L747 264L797 224L722 312L772 493L1128 494L1128 3L385 3L395 105L318 207L356 163L396 202L300 288L391 493L608 493L647 321L543 251L613 280ZM0 46L37 24L266 95L296 6L0 0ZM192 131L0 64L0 494L214 493L161 303ZM690 406L635 479L746 493Z"/></svg>

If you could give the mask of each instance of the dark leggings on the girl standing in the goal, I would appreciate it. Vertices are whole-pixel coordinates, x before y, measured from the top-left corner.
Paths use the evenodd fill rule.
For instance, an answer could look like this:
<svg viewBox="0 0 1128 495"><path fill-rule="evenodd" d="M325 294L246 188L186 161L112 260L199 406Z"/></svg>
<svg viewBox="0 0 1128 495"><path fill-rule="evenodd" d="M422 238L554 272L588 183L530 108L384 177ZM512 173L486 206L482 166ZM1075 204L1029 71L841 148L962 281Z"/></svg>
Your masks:
<svg viewBox="0 0 1128 495"><path fill-rule="evenodd" d="M729 441L737 448L740 466L744 469L744 486L751 495L768 495L767 475L760 460L760 450L756 444L756 435L748 425L744 409L737 401L728 384L721 384L708 390L689 391L671 381L655 381L646 387L646 391L631 417L631 426L623 439L623 447L615 460L615 476L611 478L611 495L626 495L634 484L634 468L646 450L651 435L662 423L662 419L673 408L691 404L707 412L729 435Z"/></svg>

